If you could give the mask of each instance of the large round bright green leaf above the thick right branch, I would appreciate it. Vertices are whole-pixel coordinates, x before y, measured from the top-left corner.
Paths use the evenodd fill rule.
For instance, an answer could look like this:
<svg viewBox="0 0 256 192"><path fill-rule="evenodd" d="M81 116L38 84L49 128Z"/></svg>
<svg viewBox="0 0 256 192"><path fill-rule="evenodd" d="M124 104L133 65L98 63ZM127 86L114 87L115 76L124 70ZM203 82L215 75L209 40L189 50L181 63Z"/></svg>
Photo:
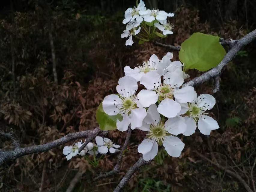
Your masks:
<svg viewBox="0 0 256 192"><path fill-rule="evenodd" d="M179 59L184 63L186 70L206 71L216 67L225 54L218 36L194 33L181 44Z"/></svg>

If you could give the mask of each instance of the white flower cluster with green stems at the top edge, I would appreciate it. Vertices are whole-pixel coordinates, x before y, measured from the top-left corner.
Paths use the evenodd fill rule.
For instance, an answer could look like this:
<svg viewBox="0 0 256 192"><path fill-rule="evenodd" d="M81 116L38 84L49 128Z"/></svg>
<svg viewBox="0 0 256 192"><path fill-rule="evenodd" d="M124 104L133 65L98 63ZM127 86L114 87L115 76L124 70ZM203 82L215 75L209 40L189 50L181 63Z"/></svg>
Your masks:
<svg viewBox="0 0 256 192"><path fill-rule="evenodd" d="M142 43L150 41L156 36L166 37L168 34L173 34L173 25L167 21L167 17L173 17L173 13L166 13L163 10L147 9L142 0L134 8L128 8L125 11L125 19L123 24L126 29L121 34L121 38L128 38L125 45L132 45L132 36L139 39ZM159 29L161 33L155 30Z"/></svg>

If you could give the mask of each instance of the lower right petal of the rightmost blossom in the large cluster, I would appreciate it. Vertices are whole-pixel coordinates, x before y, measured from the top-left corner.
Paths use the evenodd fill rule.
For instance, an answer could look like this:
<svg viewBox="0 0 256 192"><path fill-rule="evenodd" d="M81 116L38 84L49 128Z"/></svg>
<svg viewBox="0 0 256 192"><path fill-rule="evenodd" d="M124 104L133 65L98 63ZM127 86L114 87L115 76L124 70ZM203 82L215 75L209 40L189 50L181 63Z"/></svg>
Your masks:
<svg viewBox="0 0 256 192"><path fill-rule="evenodd" d="M212 117L207 115L202 115L199 117L197 127L204 135L209 135L212 130L220 128L218 123Z"/></svg>

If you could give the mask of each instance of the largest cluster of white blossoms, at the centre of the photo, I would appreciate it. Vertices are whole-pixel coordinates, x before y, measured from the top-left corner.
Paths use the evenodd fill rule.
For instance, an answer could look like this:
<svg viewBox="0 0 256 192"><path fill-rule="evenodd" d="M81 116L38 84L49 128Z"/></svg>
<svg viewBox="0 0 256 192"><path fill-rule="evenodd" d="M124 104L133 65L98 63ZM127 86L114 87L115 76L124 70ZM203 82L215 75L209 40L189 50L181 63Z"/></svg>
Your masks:
<svg viewBox="0 0 256 192"><path fill-rule="evenodd" d="M198 127L202 134L209 135L219 128L212 117L206 116L215 98L209 94L197 97L192 86L182 86L189 75L183 71L183 64L172 62L172 58L168 52L161 60L152 55L134 69L126 66L125 76L116 86L118 94L108 95L102 102L107 115L122 115L122 121L116 122L119 131L126 131L131 124L131 129L147 132L138 146L146 161L157 155L158 145L163 145L170 156L179 157L185 144L176 137L178 134L190 136ZM137 82L145 87L138 94ZM107 151L105 147L102 152Z"/></svg>

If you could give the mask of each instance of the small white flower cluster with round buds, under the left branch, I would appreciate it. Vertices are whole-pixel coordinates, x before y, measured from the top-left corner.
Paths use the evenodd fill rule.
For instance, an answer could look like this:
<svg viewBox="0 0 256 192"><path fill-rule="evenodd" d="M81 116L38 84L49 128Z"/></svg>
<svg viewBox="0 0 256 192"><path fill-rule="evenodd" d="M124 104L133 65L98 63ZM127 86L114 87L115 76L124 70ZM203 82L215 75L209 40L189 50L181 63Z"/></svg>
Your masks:
<svg viewBox="0 0 256 192"><path fill-rule="evenodd" d="M96 143L89 142L80 153L78 152L78 149L83 145L82 140L80 142L74 143L72 146L65 146L63 148L63 154L66 155L67 160L70 160L76 155L84 156L87 152L90 155L96 156L98 155L98 153L106 154L108 151L110 153L115 153L119 151L119 149L116 148L120 148L120 146L116 145L108 138L97 136L95 138L95 141Z"/></svg>

